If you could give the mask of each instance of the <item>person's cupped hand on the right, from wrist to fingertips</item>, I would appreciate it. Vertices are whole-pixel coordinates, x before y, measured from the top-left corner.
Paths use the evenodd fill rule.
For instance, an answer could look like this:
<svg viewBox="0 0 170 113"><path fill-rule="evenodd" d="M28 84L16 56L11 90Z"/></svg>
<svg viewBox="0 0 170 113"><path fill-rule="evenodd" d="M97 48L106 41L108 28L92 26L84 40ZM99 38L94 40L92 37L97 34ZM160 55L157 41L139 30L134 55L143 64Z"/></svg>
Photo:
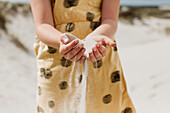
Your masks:
<svg viewBox="0 0 170 113"><path fill-rule="evenodd" d="M107 48L106 45L115 47L116 42L114 42L111 38L104 36L104 35L90 35L87 37L87 39L93 39L97 44L95 44L95 47L92 48L92 52L89 53L88 61L96 62L97 60L102 59L102 57L106 56L107 54Z"/></svg>

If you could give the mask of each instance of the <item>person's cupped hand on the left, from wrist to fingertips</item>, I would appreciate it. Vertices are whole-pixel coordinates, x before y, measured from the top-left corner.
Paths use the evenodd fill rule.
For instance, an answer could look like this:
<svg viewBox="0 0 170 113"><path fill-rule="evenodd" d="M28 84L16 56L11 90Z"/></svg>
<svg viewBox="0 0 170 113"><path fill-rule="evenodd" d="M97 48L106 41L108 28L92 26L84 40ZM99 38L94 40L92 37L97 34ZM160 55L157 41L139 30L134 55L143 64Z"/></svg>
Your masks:
<svg viewBox="0 0 170 113"><path fill-rule="evenodd" d="M85 48L83 43L79 43L78 39L75 39L70 35L61 35L60 37L60 48L59 53L62 54L67 60L70 61L80 61L83 63L85 61Z"/></svg>

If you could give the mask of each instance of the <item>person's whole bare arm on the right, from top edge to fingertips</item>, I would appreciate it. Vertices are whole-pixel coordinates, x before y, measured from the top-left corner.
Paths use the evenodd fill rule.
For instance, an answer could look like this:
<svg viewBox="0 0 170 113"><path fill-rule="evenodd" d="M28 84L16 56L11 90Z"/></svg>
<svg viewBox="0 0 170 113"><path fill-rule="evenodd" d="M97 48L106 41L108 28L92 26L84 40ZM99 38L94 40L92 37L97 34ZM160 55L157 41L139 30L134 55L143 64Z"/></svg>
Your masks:
<svg viewBox="0 0 170 113"><path fill-rule="evenodd" d="M103 0L101 25L87 36L87 38L92 38L100 44L96 44L92 48L93 51L89 53L88 60L92 62L100 60L107 54L106 45L116 46L112 36L115 35L117 30L119 7L120 0Z"/></svg>

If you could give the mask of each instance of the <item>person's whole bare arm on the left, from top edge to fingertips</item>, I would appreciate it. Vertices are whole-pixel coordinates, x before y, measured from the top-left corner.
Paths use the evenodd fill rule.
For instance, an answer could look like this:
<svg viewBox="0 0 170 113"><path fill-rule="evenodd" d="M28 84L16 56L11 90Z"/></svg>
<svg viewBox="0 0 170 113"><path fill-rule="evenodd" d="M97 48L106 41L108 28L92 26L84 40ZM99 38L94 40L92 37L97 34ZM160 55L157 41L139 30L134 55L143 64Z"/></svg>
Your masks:
<svg viewBox="0 0 170 113"><path fill-rule="evenodd" d="M54 28L51 1L30 0L30 4L38 38L48 46L59 48L59 53L66 59L84 62L84 44L78 44L77 39L68 35L65 37L63 33Z"/></svg>

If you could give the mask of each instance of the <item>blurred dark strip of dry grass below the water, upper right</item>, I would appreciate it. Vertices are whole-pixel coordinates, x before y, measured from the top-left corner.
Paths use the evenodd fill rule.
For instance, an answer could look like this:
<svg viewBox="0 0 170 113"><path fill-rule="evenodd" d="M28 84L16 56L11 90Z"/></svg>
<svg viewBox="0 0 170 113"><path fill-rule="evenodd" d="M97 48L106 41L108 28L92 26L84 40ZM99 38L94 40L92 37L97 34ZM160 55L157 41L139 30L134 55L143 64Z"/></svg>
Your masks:
<svg viewBox="0 0 170 113"><path fill-rule="evenodd" d="M160 10L154 7L120 7L119 19L122 22L134 24L134 18L143 22L144 18L156 17L170 19L170 10Z"/></svg>

